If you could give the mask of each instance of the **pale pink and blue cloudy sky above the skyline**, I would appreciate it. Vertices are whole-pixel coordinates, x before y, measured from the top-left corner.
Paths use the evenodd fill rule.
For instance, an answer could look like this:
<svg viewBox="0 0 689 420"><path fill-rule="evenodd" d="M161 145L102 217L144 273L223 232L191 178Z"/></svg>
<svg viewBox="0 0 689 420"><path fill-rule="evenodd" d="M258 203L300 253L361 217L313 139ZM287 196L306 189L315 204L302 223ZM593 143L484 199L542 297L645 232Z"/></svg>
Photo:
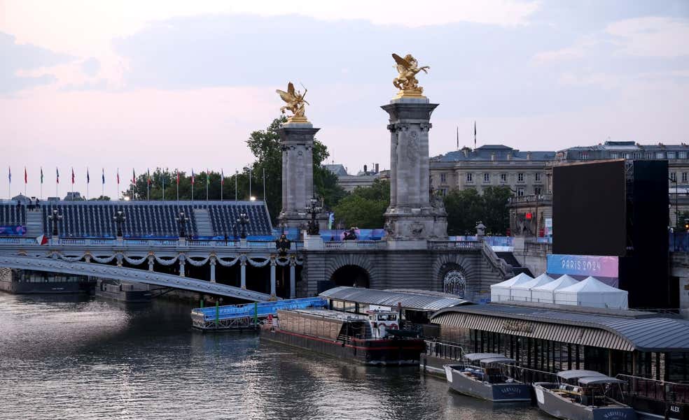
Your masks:
<svg viewBox="0 0 689 420"><path fill-rule="evenodd" d="M474 122L478 146L689 143L685 0L0 0L0 196L24 192L25 167L44 197L71 168L90 196L104 171L111 197L118 168L122 189L132 169L233 173L288 81L328 163L389 168L392 52L431 66L431 156L458 132L473 147Z"/></svg>

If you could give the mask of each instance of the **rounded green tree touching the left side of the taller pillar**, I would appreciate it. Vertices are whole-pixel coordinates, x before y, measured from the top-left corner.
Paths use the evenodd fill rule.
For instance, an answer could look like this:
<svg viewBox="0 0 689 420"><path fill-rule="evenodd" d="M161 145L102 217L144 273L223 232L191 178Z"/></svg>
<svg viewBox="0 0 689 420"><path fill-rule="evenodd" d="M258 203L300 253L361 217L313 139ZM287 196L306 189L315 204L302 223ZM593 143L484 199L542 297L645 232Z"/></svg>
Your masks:
<svg viewBox="0 0 689 420"><path fill-rule="evenodd" d="M375 180L370 187L356 187L335 205L335 224L343 228L380 229L390 205L390 182Z"/></svg>

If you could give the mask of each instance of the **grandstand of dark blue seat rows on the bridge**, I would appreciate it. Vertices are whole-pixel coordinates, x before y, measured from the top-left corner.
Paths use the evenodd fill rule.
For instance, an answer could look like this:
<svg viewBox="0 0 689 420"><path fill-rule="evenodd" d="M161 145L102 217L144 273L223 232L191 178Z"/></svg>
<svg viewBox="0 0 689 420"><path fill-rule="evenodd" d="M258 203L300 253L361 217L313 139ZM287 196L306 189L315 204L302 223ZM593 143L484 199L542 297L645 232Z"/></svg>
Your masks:
<svg viewBox="0 0 689 420"><path fill-rule="evenodd" d="M52 233L48 216L55 209L62 216L57 224L62 238L114 238L117 225L113 216L118 210L126 217L122 226L125 238L178 238L176 218L180 211L188 217L186 234L191 238L239 236L242 228L237 218L242 212L249 217L246 235L250 239L272 238L272 224L263 201L43 201L39 210L29 213L39 212L42 233L46 235ZM0 226L26 223L25 205L0 204Z"/></svg>

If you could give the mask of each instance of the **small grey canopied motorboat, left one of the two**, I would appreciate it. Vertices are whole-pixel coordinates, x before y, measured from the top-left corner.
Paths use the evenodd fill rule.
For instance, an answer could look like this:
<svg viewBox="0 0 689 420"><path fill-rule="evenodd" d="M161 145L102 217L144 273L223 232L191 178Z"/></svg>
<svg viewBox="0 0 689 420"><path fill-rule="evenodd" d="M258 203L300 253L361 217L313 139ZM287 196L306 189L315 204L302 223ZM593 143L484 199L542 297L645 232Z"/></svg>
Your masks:
<svg viewBox="0 0 689 420"><path fill-rule="evenodd" d="M494 403L520 403L531 401L531 386L509 377L505 365L514 359L497 353L470 353L464 363L443 365L450 388L468 396Z"/></svg>

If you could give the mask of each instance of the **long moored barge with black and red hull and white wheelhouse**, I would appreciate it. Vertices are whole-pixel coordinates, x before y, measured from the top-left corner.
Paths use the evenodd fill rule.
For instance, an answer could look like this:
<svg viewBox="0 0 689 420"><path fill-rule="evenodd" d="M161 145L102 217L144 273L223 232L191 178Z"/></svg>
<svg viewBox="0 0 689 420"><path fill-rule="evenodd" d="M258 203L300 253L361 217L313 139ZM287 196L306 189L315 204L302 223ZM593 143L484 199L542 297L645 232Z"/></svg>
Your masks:
<svg viewBox="0 0 689 420"><path fill-rule="evenodd" d="M398 314L326 309L278 310L261 339L368 365L417 365L424 340L399 329Z"/></svg>

